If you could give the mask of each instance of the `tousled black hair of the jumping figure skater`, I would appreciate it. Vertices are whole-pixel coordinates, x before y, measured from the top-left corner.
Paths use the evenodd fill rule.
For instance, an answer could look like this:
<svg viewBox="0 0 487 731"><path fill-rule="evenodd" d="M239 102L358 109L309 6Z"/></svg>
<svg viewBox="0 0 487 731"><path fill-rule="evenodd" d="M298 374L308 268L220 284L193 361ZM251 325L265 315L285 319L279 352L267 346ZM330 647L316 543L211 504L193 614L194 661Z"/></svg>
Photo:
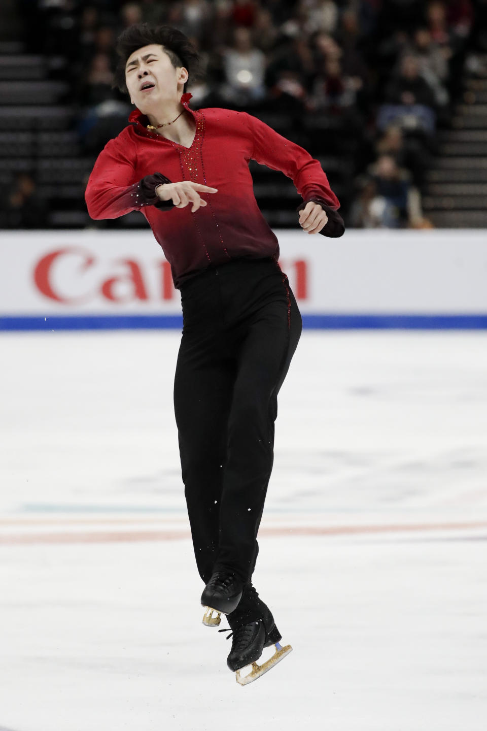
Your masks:
<svg viewBox="0 0 487 731"><path fill-rule="evenodd" d="M148 23L134 23L134 25L122 31L117 38L115 49L118 53L118 64L115 68L112 88L118 88L123 94L128 94L125 83L127 59L134 51L151 43L163 46L164 52L171 59L173 67L175 69L185 67L191 81L204 75L202 58L184 33L171 26L150 26ZM186 91L187 84L188 82L183 87L183 94Z"/></svg>

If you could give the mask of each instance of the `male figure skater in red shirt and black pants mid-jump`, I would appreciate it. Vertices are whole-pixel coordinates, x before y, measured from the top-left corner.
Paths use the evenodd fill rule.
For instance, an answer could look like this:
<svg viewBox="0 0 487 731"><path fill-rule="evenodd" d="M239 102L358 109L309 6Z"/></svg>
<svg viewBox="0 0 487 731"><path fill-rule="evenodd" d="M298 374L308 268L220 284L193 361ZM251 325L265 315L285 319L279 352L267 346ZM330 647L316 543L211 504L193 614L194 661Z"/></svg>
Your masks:
<svg viewBox="0 0 487 731"><path fill-rule="evenodd" d="M251 577L274 458L277 393L302 332L248 162L292 178L303 197L299 224L310 234L341 236L340 204L318 161L257 118L191 109L185 88L199 56L183 33L139 23L123 31L117 50L115 85L137 108L99 154L85 200L93 219L142 211L181 292L175 418L196 564L206 585L203 621L215 626L226 614L233 635L227 664L239 671L253 663L246 678L237 672L244 684L291 650L280 648ZM258 666L272 644L275 655Z"/></svg>

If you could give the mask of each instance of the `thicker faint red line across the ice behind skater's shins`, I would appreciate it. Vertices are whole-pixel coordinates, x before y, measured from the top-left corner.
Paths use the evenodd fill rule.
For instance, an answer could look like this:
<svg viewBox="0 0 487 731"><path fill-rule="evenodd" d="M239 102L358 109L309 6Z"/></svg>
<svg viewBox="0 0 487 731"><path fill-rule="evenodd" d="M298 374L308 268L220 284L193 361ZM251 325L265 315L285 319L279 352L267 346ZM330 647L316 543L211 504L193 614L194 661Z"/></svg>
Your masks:
<svg viewBox="0 0 487 731"><path fill-rule="evenodd" d="M389 526L288 526L263 527L264 536L342 536L351 534L402 533L412 531L454 531L487 528L487 521L476 523L415 523ZM31 543L112 543L137 541L174 541L191 538L189 531L91 531L89 533L38 533L0 535L0 545Z"/></svg>

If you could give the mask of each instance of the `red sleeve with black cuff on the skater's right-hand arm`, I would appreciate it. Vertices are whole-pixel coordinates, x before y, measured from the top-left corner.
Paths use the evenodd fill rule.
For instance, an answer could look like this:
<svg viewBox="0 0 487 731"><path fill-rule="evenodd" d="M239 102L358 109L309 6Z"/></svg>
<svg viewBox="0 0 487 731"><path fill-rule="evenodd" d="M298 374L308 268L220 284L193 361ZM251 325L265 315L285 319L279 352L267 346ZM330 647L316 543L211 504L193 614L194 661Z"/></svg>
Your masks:
<svg viewBox="0 0 487 731"><path fill-rule="evenodd" d="M337 238L345 232L345 223L337 213L340 201L330 188L328 178L318 160L296 143L287 140L272 127L245 112L253 136L251 158L272 170L280 170L291 178L303 202L296 208L301 211L310 202L319 203L328 216L323 236Z"/></svg>

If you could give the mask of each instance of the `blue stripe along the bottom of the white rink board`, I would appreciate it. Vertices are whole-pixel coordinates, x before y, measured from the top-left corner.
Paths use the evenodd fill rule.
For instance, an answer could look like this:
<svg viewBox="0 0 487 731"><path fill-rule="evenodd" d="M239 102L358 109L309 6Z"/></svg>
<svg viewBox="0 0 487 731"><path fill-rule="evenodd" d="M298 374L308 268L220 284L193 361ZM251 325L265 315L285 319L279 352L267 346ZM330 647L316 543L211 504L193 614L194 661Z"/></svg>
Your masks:
<svg viewBox="0 0 487 731"><path fill-rule="evenodd" d="M316 330L486 330L487 314L303 314L303 327ZM0 330L183 329L175 315L66 315L0 317Z"/></svg>

